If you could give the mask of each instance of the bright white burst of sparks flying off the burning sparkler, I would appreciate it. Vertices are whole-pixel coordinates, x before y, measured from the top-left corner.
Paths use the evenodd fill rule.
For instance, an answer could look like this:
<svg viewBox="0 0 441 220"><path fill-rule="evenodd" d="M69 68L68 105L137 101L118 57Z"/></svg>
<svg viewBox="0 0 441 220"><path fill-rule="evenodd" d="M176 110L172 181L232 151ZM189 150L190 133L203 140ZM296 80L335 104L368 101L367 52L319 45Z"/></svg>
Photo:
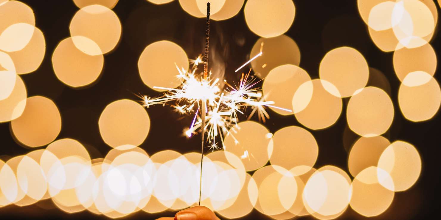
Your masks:
<svg viewBox="0 0 441 220"><path fill-rule="evenodd" d="M262 51L250 59L250 61L261 55ZM196 76L196 67L203 63L200 55L197 59L191 60L191 63L193 67L189 71L179 69L179 67L176 66L179 72L176 77L181 79L182 82L179 87L165 88L154 86L153 88L168 91L164 92L164 95L156 98L151 98L146 95L139 95L139 97L142 99L142 106L147 108L151 105L165 105L174 101L175 105L172 105L172 107L179 114L194 114L191 126L184 132L188 137L202 130L200 105L206 103L205 131L208 135L207 141L210 143L210 145L207 146L209 150L214 151L220 149L220 147L217 146L217 140L221 141L222 148L225 149L224 137L228 134L232 135L229 133L229 129L237 125L238 114L244 114L243 109L246 106L251 106L253 109L248 119L257 112L259 121L262 120L263 122L265 122L265 118L269 118L264 106L271 106L291 112L291 110L273 106L273 104L275 104L273 101L265 101L261 89L255 87L259 81L255 82L254 78L250 77L251 70L247 74L242 73L238 85L232 86L224 80L227 88L222 91L221 88L219 88L219 78L211 79L211 71L206 79ZM247 63L245 63L245 65ZM238 70L240 70L240 68ZM236 70L236 72L238 70ZM205 102L201 102L202 100L205 100ZM234 136L232 136L232 138L235 139ZM235 139L235 142L238 142L237 139Z"/></svg>

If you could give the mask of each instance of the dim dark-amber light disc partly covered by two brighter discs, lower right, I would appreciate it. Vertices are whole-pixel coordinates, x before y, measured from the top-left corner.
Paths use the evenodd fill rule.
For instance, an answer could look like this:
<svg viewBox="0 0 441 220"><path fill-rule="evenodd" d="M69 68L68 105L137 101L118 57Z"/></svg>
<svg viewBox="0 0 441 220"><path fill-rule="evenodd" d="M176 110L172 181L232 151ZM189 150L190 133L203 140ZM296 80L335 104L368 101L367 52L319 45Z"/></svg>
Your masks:
<svg viewBox="0 0 441 220"><path fill-rule="evenodd" d="M362 170L377 166L378 159L389 144L389 140L382 136L359 138L349 151L348 168L351 175L357 176Z"/></svg>

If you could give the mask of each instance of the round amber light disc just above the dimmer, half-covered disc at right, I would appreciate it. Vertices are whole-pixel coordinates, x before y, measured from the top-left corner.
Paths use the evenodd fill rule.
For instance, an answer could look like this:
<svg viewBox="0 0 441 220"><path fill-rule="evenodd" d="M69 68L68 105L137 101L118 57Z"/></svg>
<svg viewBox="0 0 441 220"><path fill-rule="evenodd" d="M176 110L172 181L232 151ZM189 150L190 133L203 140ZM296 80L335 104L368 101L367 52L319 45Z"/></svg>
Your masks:
<svg viewBox="0 0 441 220"><path fill-rule="evenodd" d="M360 136L385 133L392 125L394 109L389 95L376 87L357 91L349 99L346 117L349 128Z"/></svg>

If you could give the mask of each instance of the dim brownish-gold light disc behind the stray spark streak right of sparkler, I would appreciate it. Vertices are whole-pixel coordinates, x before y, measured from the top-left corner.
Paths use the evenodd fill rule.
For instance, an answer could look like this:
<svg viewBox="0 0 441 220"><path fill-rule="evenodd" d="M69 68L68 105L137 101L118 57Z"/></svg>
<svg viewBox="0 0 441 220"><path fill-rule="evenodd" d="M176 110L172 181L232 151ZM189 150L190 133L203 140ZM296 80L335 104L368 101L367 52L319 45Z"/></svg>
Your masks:
<svg viewBox="0 0 441 220"><path fill-rule="evenodd" d="M265 78L269 71L277 66L284 64L299 66L300 64L299 47L291 37L286 35L260 38L251 49L250 57L254 57L261 51L263 52L262 56L251 62L254 74L261 79Z"/></svg>

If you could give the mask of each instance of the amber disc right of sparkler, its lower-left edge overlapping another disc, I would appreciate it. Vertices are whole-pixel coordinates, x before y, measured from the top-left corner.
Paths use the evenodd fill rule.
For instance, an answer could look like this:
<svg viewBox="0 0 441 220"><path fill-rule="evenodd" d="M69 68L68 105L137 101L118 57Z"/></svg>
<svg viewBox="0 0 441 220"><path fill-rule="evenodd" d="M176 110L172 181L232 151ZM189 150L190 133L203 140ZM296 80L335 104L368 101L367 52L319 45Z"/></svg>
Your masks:
<svg viewBox="0 0 441 220"><path fill-rule="evenodd" d="M369 67L363 55L354 48L341 47L328 53L320 62L320 79L335 85L338 92L327 88L329 93L340 97L349 97L367 84Z"/></svg>

